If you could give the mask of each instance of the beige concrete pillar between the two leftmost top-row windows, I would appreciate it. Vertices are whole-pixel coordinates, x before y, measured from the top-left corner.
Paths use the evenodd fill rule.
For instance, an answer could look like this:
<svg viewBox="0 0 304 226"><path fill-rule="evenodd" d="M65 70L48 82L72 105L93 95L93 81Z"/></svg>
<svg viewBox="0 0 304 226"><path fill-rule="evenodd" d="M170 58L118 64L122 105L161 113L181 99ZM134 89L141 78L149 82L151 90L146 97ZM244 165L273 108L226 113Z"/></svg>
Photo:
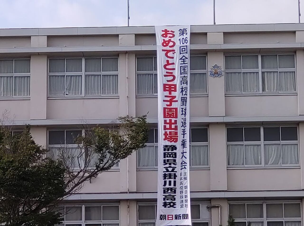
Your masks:
<svg viewBox="0 0 304 226"><path fill-rule="evenodd" d="M47 119L47 56L31 56L30 119Z"/></svg>

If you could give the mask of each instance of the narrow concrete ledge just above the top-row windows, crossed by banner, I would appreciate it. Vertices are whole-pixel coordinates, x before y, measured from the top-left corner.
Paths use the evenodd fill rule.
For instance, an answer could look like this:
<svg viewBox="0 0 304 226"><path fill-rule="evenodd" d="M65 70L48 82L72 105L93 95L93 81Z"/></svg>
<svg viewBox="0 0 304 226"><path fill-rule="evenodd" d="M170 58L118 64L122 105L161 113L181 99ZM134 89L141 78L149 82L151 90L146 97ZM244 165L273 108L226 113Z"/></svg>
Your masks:
<svg viewBox="0 0 304 226"><path fill-rule="evenodd" d="M230 49L300 49L304 43L257 43L257 44L193 44L193 50L230 50ZM56 53L56 52L136 52L136 51L156 51L156 45L147 46L77 46L77 47L26 47L26 48L0 48L0 53Z"/></svg>

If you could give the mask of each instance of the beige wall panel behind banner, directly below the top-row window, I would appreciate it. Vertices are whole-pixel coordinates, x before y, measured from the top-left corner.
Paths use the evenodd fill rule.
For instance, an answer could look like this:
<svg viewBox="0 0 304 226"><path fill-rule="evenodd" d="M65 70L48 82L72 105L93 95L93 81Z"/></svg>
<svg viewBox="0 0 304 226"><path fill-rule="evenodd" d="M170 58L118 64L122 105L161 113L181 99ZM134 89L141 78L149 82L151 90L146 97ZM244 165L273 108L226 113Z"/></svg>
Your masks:
<svg viewBox="0 0 304 226"><path fill-rule="evenodd" d="M157 118L157 97L136 98L136 116L147 113L148 118ZM208 97L190 96L190 117L208 117L208 115Z"/></svg>

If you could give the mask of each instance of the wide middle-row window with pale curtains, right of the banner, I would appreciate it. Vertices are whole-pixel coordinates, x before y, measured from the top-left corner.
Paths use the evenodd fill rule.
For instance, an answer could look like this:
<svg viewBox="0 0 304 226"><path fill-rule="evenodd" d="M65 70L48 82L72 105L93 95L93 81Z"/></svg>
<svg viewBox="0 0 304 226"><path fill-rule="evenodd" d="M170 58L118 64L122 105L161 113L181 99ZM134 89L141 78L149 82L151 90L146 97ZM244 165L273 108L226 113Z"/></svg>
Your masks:
<svg viewBox="0 0 304 226"><path fill-rule="evenodd" d="M227 128L228 166L299 166L298 128Z"/></svg>

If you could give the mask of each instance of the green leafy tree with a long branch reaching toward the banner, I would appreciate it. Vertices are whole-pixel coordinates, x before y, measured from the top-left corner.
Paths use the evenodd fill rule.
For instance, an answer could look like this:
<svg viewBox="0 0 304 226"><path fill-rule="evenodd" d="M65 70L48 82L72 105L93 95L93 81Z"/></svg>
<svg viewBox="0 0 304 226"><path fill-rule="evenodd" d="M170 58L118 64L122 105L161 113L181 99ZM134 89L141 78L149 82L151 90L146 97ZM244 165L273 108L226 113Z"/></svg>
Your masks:
<svg viewBox="0 0 304 226"><path fill-rule="evenodd" d="M58 204L85 181L111 169L147 141L146 116L120 117L111 129L93 128L74 137L78 153L66 147L54 154L33 140L29 126L13 135L0 131L0 223L51 226L61 222ZM61 215L62 216L62 215Z"/></svg>

